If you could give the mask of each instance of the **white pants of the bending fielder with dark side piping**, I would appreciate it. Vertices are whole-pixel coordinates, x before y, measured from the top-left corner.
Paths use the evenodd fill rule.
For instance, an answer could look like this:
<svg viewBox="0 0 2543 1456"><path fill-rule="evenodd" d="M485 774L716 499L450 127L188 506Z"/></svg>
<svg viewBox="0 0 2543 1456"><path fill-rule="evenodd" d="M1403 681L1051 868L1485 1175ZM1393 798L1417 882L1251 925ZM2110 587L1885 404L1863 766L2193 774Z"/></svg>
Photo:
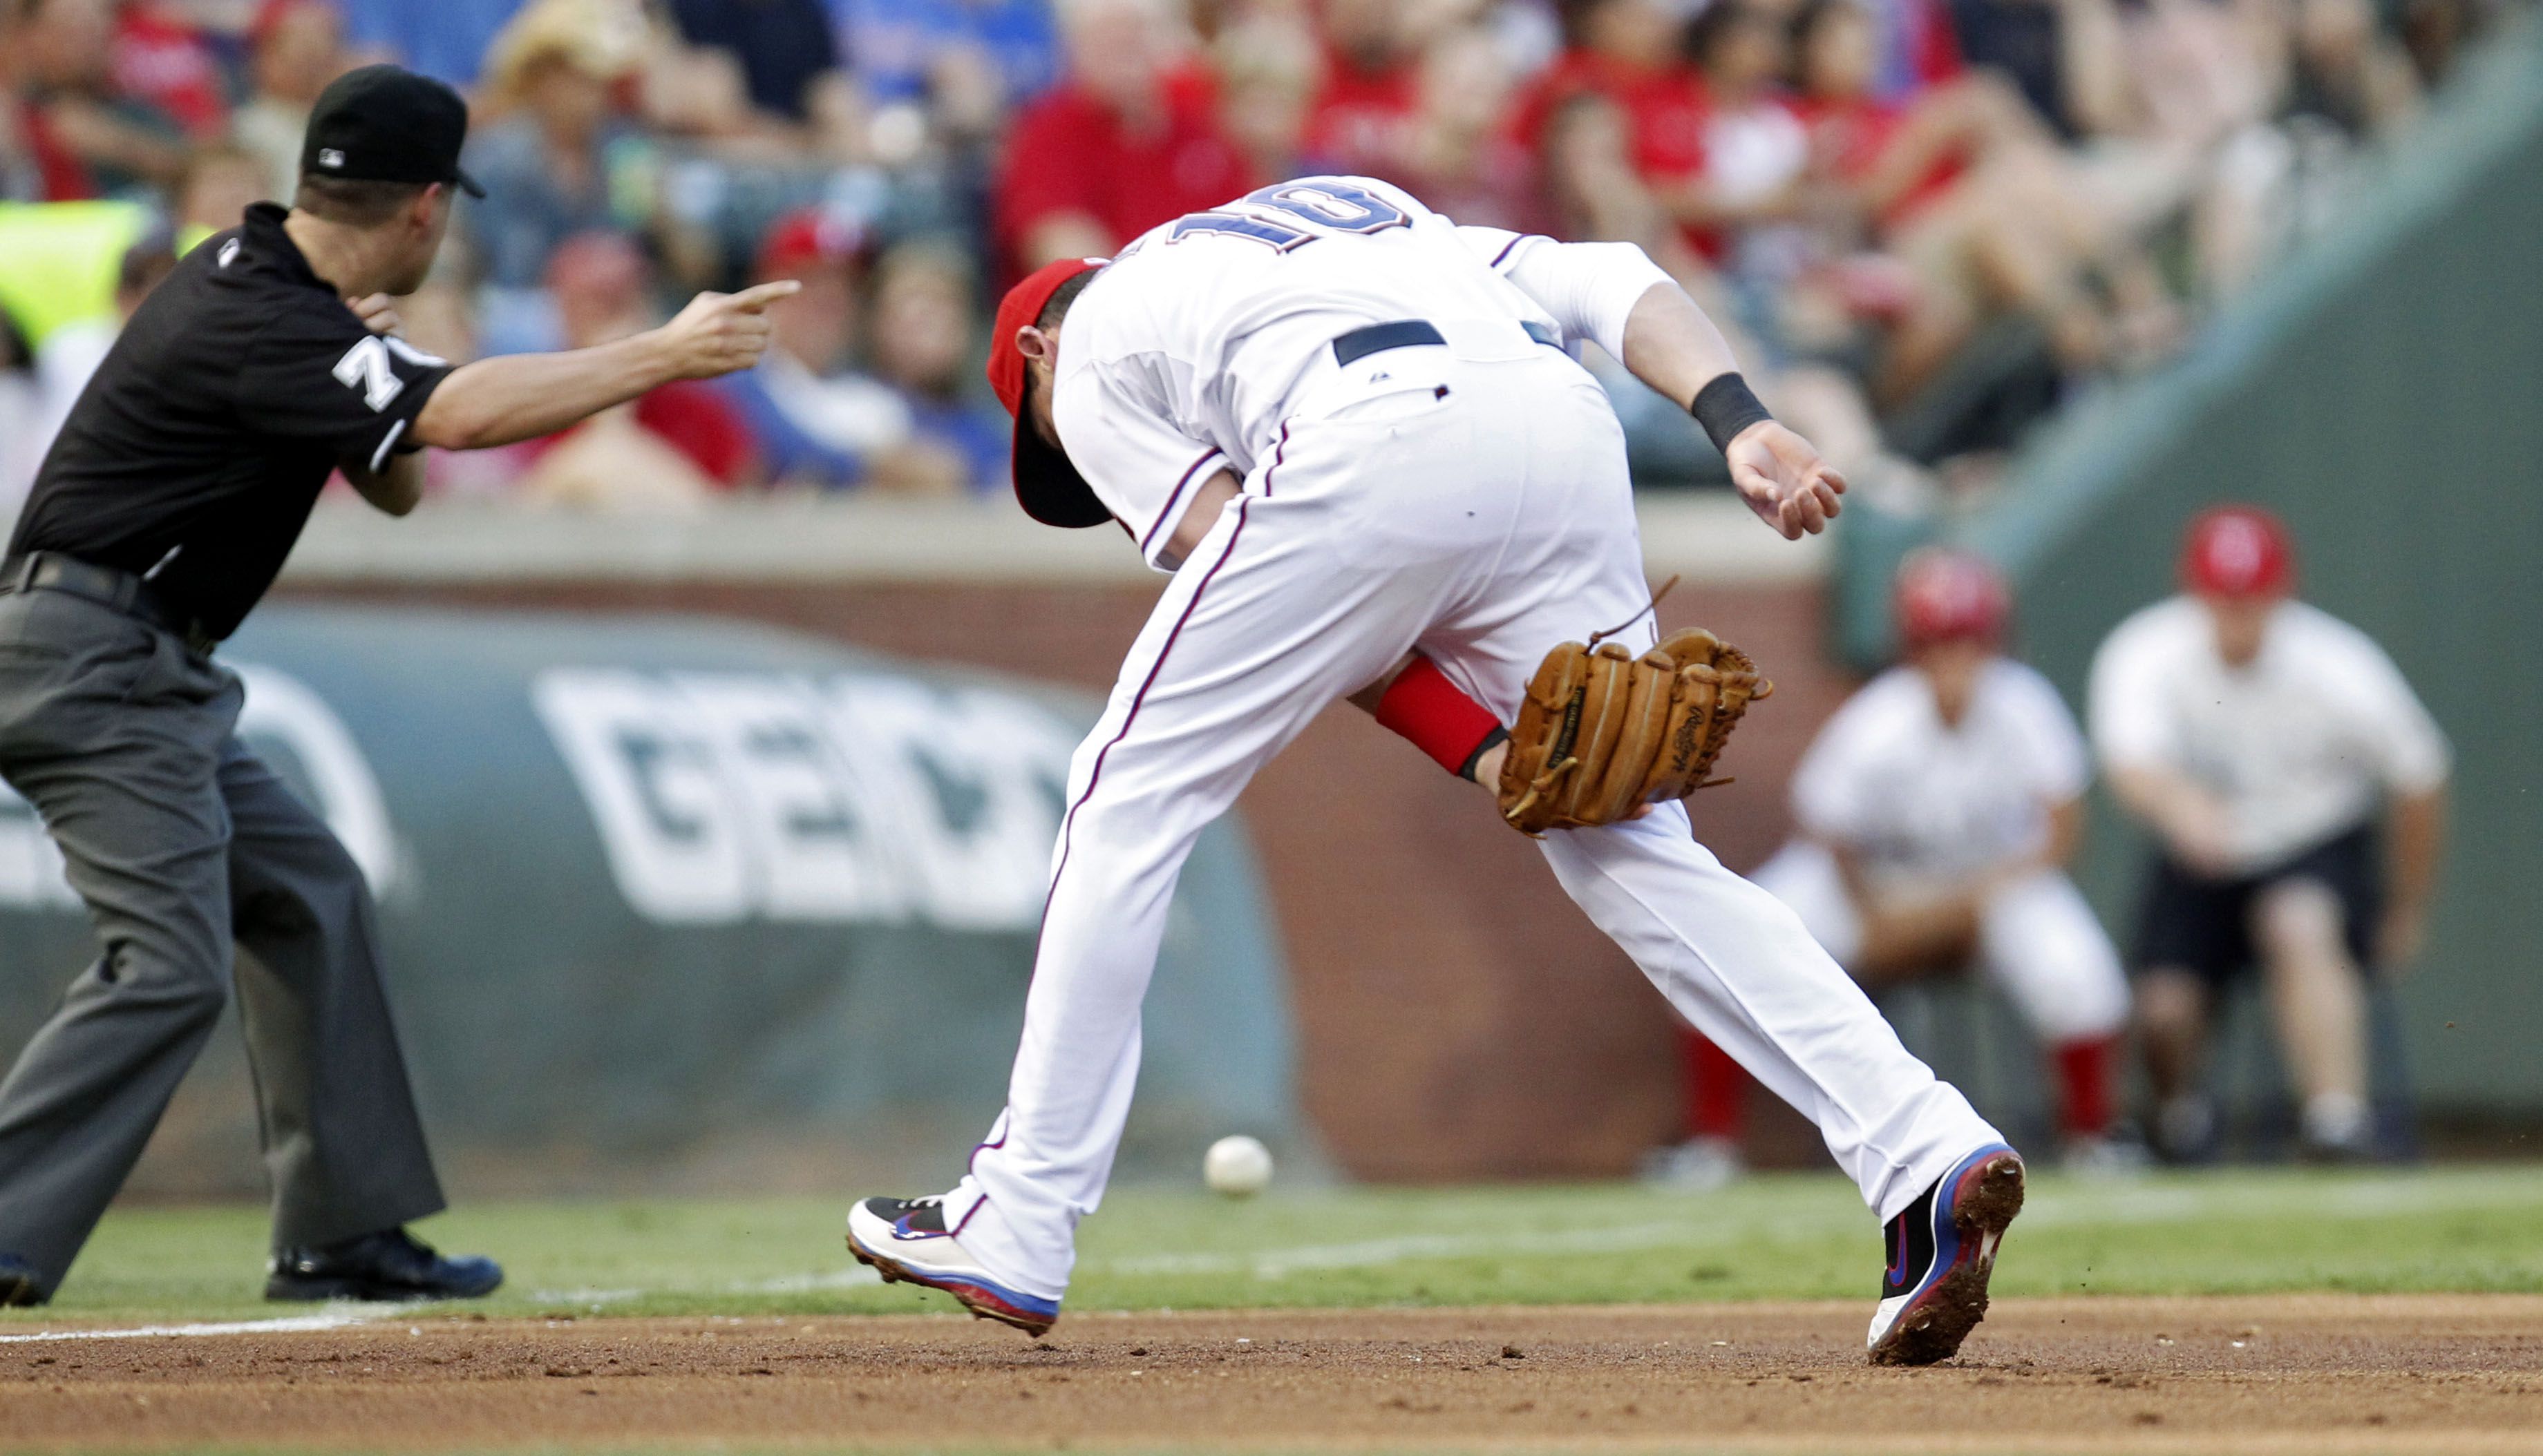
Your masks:
<svg viewBox="0 0 2543 1456"><path fill-rule="evenodd" d="M1139 1001L1200 828L1406 648L1511 722L1554 643L1650 605L1605 394L1546 348L1475 353L1493 358L1320 361L1325 379L1167 584L1078 747L1007 1110L946 1194L964 1250L1025 1293L1060 1298L1076 1225L1104 1194ZM1625 640L1648 645L1650 623ZM2001 1141L1790 910L1694 844L1683 808L1556 831L1544 854L1689 1021L1818 1123L1882 1220Z"/></svg>

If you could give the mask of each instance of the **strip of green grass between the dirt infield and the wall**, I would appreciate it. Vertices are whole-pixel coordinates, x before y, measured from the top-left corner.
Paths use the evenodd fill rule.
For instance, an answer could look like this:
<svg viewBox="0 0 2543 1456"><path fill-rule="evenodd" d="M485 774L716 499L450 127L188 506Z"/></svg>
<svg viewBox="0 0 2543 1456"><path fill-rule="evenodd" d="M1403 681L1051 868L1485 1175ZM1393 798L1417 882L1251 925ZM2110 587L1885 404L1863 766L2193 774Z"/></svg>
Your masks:
<svg viewBox="0 0 2543 1456"><path fill-rule="evenodd" d="M506 1202L425 1225L504 1258L488 1316L949 1309L865 1283L844 1199ZM2543 1291L2543 1169L2039 1176L1999 1293ZM120 1210L46 1321L264 1319L259 1210ZM1315 1189L1231 1204L1116 1189L1068 1306L1419 1306L1867 1298L1882 1248L1854 1189L1783 1174L1719 1194L1625 1184Z"/></svg>

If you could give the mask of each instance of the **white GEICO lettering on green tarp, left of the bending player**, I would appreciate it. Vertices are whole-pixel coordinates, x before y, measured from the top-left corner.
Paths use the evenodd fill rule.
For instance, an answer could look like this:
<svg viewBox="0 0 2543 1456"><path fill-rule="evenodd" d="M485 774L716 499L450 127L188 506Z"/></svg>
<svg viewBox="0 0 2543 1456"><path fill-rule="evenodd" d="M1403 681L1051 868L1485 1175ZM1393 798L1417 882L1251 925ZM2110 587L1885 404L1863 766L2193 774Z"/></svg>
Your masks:
<svg viewBox="0 0 2543 1456"><path fill-rule="evenodd" d="M1076 729L882 673L554 668L531 701L628 905L659 922L1030 930Z"/></svg>

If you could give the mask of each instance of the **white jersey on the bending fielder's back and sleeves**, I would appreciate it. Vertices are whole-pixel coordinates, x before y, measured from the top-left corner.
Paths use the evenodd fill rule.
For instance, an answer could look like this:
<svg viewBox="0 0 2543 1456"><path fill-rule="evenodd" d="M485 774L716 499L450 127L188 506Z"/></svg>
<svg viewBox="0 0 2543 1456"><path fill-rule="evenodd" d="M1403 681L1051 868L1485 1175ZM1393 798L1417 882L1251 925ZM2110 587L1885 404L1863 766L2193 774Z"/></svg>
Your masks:
<svg viewBox="0 0 2543 1456"><path fill-rule="evenodd" d="M1350 239L1353 246L1310 246ZM1625 356L1668 282L1633 244L1462 229L1371 178L1302 178L1132 241L1060 325L1050 394L1068 460L1152 564L1200 480L1251 475L1335 374L1333 340L1419 318L1467 358L1521 358L1521 323Z"/></svg>

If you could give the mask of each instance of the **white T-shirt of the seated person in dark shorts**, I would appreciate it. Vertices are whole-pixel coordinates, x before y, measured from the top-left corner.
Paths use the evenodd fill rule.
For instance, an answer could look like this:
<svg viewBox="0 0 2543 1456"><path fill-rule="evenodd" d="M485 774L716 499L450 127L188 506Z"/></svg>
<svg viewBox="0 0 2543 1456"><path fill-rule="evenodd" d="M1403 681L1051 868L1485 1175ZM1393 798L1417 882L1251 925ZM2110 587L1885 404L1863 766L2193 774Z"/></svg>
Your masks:
<svg viewBox="0 0 2543 1456"><path fill-rule="evenodd" d="M2156 602L2093 658L2093 750L2184 772L2223 800L2235 869L2261 872L2357 823L2385 793L2446 780L2446 734L2357 628L2281 605L2245 668L2195 597Z"/></svg>

